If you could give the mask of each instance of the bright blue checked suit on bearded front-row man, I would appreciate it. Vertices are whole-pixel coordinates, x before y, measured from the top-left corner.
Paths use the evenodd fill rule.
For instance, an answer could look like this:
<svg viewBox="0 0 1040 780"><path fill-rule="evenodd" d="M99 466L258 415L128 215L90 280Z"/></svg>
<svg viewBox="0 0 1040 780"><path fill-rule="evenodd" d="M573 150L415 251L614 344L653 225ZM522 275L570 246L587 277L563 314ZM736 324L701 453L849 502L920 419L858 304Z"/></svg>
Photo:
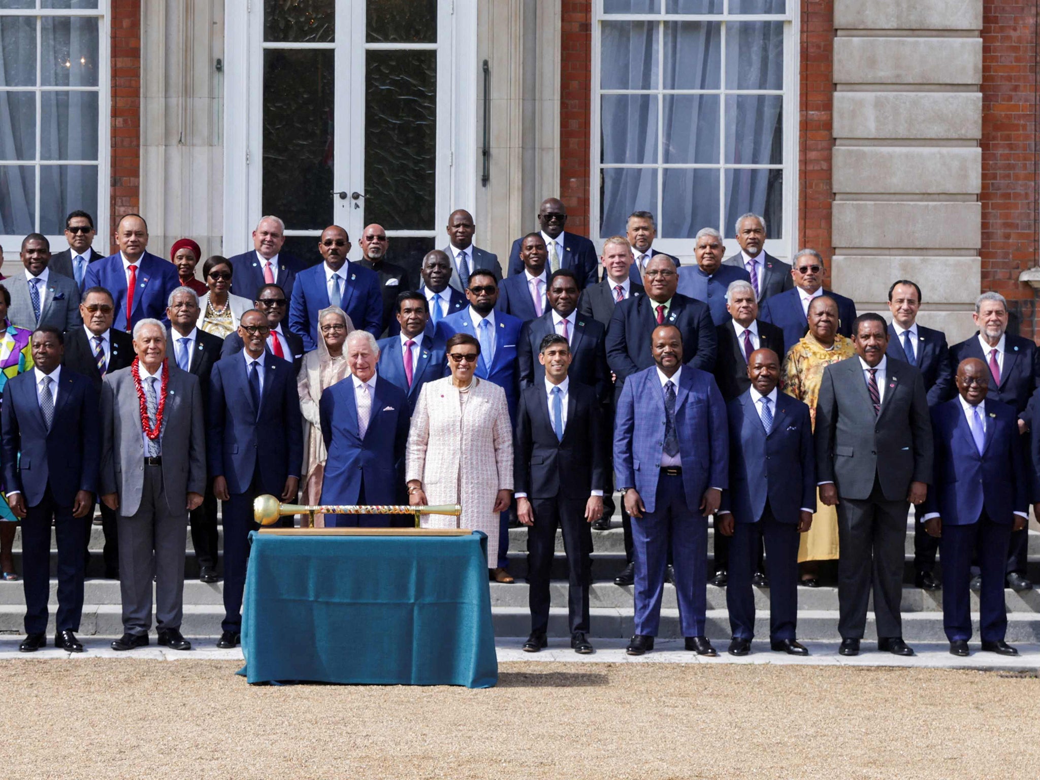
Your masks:
<svg viewBox="0 0 1040 780"><path fill-rule="evenodd" d="M636 412L638 408L638 412ZM681 473L661 471L665 393L657 367L632 374L618 399L614 426L615 485L635 488L646 512L632 517L635 633L655 636L669 541L684 636L703 636L708 525L698 509L708 488L729 484L726 405L714 378L682 366L675 398Z"/></svg>

